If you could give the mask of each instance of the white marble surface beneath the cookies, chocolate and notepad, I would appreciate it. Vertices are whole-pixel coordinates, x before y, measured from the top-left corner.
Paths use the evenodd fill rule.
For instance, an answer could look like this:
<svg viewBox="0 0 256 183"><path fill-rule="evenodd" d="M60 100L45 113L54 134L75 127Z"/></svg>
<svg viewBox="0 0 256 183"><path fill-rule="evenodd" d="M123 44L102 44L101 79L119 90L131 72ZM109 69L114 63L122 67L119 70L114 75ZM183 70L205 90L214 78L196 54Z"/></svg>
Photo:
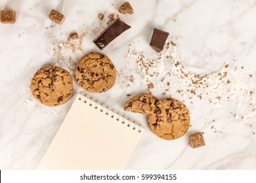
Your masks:
<svg viewBox="0 0 256 183"><path fill-rule="evenodd" d="M148 93L147 84L152 82L154 95L160 99L175 97L190 110L191 127L175 141L156 137L146 116L123 111L146 128L126 169L256 169L256 1L130 0L135 14L120 18L131 29L101 52L92 40L106 27L108 14L117 12L122 2L0 1L1 10L16 10L16 24L0 24L0 169L35 169L74 101L73 96L60 107L45 107L35 101L30 92L35 71L49 64L72 69L87 52L108 55L118 71L114 88L93 94L97 99L123 111L126 95ZM53 8L66 16L62 25L47 17ZM97 18L99 12L105 14L103 21ZM148 45L154 27L170 33L168 41L177 44L179 58L175 47L170 47L157 59L161 54ZM84 35L81 48L78 44L74 53L68 45L62 46L72 31ZM148 75L136 63L140 52L145 60L154 60L156 65L150 72L160 72L160 76L146 81ZM67 61L69 57L74 63ZM209 76L208 88L196 90L202 99L186 92L194 87L190 80L176 77L181 76L180 70L175 71L177 60L184 65L179 65L180 69L190 71L189 76ZM229 65L226 70L225 64ZM217 73L226 71L230 85L226 78L219 82ZM130 75L134 82L129 81ZM163 78L170 86L163 85ZM75 84L75 95L81 91ZM163 92L166 94L161 95ZM219 95L224 97L216 100ZM188 137L199 131L204 132L206 146L192 149Z"/></svg>

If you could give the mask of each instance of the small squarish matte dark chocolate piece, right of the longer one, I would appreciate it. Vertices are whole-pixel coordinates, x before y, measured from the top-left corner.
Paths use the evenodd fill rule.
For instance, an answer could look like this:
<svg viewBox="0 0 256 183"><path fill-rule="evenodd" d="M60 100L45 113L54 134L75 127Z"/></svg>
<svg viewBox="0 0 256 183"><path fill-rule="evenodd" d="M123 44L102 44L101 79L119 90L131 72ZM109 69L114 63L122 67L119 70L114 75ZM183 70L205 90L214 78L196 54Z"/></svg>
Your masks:
<svg viewBox="0 0 256 183"><path fill-rule="evenodd" d="M156 52L161 52L161 50L163 50L163 46L165 45L165 41L168 36L169 33L154 28L154 32L150 41L150 46L154 50L156 50Z"/></svg>

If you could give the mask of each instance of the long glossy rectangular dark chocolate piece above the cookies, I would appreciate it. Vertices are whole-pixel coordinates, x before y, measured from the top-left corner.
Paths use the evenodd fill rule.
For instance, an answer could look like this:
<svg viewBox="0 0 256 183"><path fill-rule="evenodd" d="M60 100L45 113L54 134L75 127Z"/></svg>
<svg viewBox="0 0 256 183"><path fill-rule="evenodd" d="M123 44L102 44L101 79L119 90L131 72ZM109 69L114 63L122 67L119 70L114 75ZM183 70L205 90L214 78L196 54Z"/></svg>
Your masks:
<svg viewBox="0 0 256 183"><path fill-rule="evenodd" d="M96 37L93 42L103 50L111 41L116 39L121 33L131 28L130 25L125 24L125 22L121 22L121 20L114 20L104 31L100 33L98 37Z"/></svg>

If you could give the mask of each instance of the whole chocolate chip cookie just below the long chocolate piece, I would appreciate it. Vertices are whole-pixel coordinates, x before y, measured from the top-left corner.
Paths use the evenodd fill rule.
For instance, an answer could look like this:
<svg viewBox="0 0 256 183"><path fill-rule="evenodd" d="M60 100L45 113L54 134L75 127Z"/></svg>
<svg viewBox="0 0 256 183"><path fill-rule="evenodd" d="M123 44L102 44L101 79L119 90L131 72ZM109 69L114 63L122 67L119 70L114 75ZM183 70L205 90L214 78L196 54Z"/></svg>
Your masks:
<svg viewBox="0 0 256 183"><path fill-rule="evenodd" d="M75 78L79 86L88 92L106 92L115 84L116 68L107 56L90 53L79 59Z"/></svg>

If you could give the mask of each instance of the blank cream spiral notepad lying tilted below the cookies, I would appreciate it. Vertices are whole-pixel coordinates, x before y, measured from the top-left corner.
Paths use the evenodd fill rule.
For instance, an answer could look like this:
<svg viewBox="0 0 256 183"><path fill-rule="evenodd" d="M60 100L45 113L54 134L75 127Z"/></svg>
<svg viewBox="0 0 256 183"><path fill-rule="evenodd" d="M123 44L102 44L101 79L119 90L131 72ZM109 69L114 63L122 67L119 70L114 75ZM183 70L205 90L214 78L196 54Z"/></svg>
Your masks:
<svg viewBox="0 0 256 183"><path fill-rule="evenodd" d="M37 169L124 169L144 129L80 93Z"/></svg>

